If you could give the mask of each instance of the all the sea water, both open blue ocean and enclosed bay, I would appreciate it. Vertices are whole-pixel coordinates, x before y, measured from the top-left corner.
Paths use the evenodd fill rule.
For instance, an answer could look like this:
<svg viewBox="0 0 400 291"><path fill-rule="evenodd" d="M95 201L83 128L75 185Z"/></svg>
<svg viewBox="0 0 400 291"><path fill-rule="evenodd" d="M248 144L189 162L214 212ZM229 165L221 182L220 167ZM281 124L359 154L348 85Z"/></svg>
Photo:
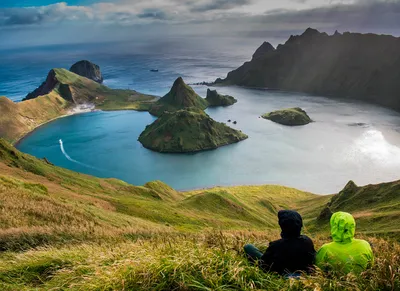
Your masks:
<svg viewBox="0 0 400 291"><path fill-rule="evenodd" d="M225 77L249 61L263 41L193 37L1 49L0 96L19 102L45 80L50 69L69 68L82 59L98 64L104 84L111 88L163 96L179 76L186 83ZM193 88L205 97L206 86ZM302 93L234 86L216 89L238 103L209 108L207 114L242 130L247 140L195 154L161 154L137 140L155 117L147 112L96 111L50 122L17 147L73 171L134 185L161 180L178 190L277 184L332 194L349 180L365 185L400 178L398 112ZM314 122L286 127L260 118L287 107L303 108Z"/></svg>

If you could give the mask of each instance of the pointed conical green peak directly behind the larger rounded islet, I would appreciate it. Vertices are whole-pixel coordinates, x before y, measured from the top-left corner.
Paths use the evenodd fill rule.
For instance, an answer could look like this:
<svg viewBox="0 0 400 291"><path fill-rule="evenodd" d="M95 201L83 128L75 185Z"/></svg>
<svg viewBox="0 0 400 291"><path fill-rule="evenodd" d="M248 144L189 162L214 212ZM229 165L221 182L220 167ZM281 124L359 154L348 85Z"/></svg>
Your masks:
<svg viewBox="0 0 400 291"><path fill-rule="evenodd" d="M208 107L208 103L179 77L168 94L153 104L149 112L152 115L161 116L165 111L173 112L189 107L204 110Z"/></svg>

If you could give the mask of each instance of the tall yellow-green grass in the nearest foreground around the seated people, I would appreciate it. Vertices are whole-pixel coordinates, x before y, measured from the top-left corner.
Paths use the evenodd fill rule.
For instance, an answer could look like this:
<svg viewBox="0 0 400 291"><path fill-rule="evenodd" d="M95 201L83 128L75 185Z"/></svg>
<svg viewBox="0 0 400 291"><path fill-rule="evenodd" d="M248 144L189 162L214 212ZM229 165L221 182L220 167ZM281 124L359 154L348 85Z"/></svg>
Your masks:
<svg viewBox="0 0 400 291"><path fill-rule="evenodd" d="M247 242L265 243L277 234L207 232L153 236L119 244L81 244L4 253L2 290L398 290L400 248L370 239L371 270L356 277L317 272L285 280L251 266ZM316 245L326 240L315 239Z"/></svg>

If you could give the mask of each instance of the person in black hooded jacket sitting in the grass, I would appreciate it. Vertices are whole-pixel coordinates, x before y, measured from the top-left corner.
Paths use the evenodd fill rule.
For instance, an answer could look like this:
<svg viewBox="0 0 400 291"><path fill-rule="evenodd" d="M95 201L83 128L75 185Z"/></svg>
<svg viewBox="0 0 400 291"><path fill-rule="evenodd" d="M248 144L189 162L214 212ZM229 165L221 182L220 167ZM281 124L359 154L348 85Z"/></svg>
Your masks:
<svg viewBox="0 0 400 291"><path fill-rule="evenodd" d="M267 272L281 275L298 275L310 272L315 261L315 249L312 240L301 235L303 219L292 210L278 213L281 239L271 242L263 254L253 245L246 245L244 251L251 262L258 262Z"/></svg>

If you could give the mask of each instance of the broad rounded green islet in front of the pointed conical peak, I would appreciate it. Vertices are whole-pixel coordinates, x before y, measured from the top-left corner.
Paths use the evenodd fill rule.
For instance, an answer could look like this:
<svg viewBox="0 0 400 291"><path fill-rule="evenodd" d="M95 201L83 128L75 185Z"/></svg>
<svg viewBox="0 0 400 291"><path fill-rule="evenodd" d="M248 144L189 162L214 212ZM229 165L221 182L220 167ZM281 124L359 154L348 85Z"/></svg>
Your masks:
<svg viewBox="0 0 400 291"><path fill-rule="evenodd" d="M216 122L200 109L165 112L141 133L145 148L161 153L190 153L215 149L247 138Z"/></svg>

